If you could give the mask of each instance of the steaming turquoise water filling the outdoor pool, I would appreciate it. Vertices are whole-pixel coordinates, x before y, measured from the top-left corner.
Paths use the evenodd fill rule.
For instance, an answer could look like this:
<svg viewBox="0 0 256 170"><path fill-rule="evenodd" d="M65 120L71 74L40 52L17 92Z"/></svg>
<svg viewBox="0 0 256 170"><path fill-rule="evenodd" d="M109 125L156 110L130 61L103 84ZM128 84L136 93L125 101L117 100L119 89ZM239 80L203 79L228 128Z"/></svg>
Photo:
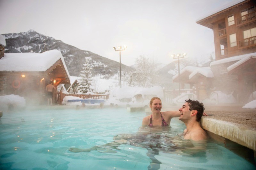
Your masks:
<svg viewBox="0 0 256 170"><path fill-rule="evenodd" d="M166 140L150 139L149 135L139 141L140 146L120 144L116 149L77 153L68 150L104 145L118 134L136 134L145 116L144 112L130 113L121 108L4 112L0 120L0 169L255 169L214 142L208 142L203 151L185 152L184 147L191 147L179 137L185 125L175 120L172 128L151 132L153 136L167 136Z"/></svg>

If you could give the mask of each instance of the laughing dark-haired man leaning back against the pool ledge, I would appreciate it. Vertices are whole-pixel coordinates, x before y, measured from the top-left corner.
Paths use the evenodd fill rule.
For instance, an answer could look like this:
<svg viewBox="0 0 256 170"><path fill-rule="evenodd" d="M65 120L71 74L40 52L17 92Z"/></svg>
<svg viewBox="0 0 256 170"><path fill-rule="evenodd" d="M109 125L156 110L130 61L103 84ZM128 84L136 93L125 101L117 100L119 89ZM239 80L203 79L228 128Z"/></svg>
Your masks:
<svg viewBox="0 0 256 170"><path fill-rule="evenodd" d="M204 113L204 104L197 100L185 100L179 109L179 119L185 123L187 129L184 130L184 139L200 141L207 138L207 134L200 126L199 121Z"/></svg>

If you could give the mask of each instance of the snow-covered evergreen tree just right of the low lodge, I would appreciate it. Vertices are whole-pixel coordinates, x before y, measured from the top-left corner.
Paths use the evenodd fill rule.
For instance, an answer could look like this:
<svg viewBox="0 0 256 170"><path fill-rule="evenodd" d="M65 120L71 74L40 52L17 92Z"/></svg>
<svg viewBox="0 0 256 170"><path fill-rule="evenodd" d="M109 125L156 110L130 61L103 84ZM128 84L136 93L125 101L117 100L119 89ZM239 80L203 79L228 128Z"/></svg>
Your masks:
<svg viewBox="0 0 256 170"><path fill-rule="evenodd" d="M82 68L83 70L80 73L80 77L81 79L79 80L79 85L77 88L78 93L88 93L88 92L92 92L91 89L91 85L92 85L92 66L89 64L90 60L92 60L92 58L90 57L85 57L85 61L84 61L84 67Z"/></svg>

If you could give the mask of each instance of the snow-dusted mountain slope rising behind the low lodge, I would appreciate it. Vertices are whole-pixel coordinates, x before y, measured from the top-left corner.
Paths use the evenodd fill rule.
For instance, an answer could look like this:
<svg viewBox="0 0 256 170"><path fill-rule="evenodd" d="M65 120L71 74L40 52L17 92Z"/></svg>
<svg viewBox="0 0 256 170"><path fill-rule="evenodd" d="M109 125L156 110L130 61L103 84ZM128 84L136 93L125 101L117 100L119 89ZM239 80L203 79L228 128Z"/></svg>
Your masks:
<svg viewBox="0 0 256 170"><path fill-rule="evenodd" d="M119 62L102 57L90 51L80 50L74 46L63 43L52 37L29 30L28 32L2 34L6 41L4 53L42 53L57 49L61 52L68 72L72 76L79 76L85 61L85 57L91 57L92 75L100 75L108 79L119 75ZM122 64L122 72L132 71L132 67Z"/></svg>

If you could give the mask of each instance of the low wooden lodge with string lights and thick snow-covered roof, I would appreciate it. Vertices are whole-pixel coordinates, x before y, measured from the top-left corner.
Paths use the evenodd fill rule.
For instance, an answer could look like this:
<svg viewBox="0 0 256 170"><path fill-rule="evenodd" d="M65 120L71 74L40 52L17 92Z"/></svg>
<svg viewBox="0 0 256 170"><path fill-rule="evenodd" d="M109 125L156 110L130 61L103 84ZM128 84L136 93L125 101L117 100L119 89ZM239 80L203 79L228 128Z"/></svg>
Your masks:
<svg viewBox="0 0 256 170"><path fill-rule="evenodd" d="M58 50L44 53L4 53L5 39L0 35L0 95L15 94L26 104L46 104L45 87L52 82L70 85L69 73ZM53 93L56 103L57 91Z"/></svg>

